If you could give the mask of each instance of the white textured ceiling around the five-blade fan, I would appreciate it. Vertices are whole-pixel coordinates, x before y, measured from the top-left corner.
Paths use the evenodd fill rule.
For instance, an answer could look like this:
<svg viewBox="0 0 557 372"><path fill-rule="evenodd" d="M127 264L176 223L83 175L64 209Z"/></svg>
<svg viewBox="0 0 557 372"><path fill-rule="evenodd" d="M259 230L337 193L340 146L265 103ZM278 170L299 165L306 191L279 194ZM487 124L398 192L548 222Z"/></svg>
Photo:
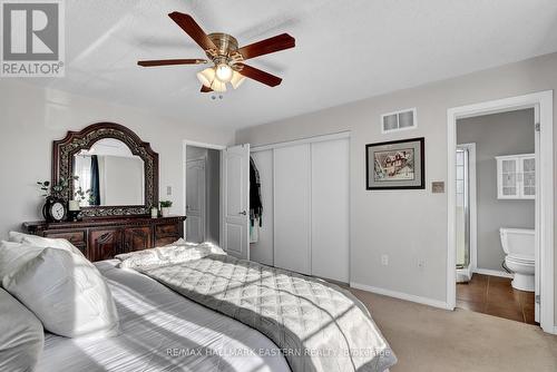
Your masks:
<svg viewBox="0 0 557 372"><path fill-rule="evenodd" d="M32 84L242 128L557 50L556 0L71 0L67 74ZM223 100L199 92L204 58L167 16L190 13L241 46L289 32L296 48L250 61L284 80L247 80Z"/></svg>

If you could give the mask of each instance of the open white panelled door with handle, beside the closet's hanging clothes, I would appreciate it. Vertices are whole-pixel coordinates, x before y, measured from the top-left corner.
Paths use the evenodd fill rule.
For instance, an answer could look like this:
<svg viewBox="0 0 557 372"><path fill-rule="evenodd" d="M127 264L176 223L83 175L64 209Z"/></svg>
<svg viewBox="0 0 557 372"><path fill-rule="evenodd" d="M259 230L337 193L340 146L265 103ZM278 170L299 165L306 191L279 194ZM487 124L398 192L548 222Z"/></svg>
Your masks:
<svg viewBox="0 0 557 372"><path fill-rule="evenodd" d="M228 254L250 260L250 145L228 147L222 156L221 244Z"/></svg>

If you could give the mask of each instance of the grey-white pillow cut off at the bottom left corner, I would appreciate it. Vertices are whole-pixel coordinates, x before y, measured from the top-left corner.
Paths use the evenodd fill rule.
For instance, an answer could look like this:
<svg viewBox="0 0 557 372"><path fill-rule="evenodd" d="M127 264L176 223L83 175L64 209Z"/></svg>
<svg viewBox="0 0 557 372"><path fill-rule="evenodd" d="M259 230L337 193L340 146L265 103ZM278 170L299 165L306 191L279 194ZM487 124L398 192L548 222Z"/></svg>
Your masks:
<svg viewBox="0 0 557 372"><path fill-rule="evenodd" d="M32 371L45 346L42 324L0 288L0 371Z"/></svg>

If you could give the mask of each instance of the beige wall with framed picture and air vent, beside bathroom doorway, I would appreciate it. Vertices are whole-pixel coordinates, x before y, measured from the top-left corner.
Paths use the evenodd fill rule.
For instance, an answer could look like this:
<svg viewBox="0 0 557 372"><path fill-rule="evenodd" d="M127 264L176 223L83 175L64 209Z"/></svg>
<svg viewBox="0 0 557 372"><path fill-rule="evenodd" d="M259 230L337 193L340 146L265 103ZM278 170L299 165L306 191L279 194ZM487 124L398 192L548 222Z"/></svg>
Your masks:
<svg viewBox="0 0 557 372"><path fill-rule="evenodd" d="M247 128L236 143L351 130L351 281L446 302L447 194L431 194L430 184L447 182L447 109L556 88L554 53ZM410 107L418 108L418 129L381 135L381 114ZM426 137L427 189L365 190L365 144L419 136ZM389 266L381 254L389 254Z"/></svg>

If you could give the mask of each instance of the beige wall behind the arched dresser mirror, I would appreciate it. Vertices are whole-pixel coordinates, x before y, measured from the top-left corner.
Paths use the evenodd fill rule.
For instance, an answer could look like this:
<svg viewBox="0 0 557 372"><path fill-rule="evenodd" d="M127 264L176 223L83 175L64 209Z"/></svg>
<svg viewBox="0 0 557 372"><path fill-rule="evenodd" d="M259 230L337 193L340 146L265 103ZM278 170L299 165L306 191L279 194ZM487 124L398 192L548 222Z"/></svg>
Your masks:
<svg viewBox="0 0 557 372"><path fill-rule="evenodd" d="M206 125L166 119L150 112L18 80L0 79L0 238L25 221L40 218L41 198L35 184L50 179L51 144L68 130L114 121L134 130L159 154L160 197L184 213L182 140L227 145L234 133ZM166 196L166 186L173 195Z"/></svg>

